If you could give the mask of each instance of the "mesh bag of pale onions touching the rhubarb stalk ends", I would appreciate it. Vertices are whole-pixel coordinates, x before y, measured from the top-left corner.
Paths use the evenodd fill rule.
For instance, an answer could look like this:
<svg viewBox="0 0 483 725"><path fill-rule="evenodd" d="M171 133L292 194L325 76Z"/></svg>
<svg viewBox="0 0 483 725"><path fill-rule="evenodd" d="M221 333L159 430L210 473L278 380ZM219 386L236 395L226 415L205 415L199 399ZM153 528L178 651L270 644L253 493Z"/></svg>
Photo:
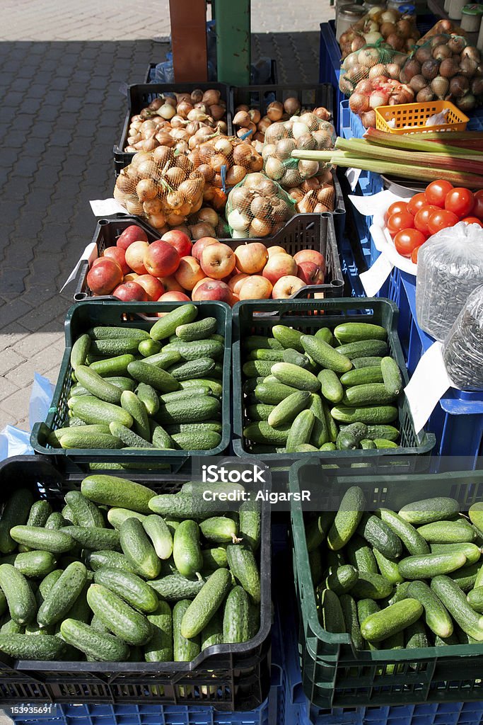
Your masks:
<svg viewBox="0 0 483 725"><path fill-rule="evenodd" d="M303 181L322 174L329 165L318 161L293 159L295 149L333 149L335 128L312 112L293 116L285 122L272 123L266 128L264 149L264 172L280 183L282 188L299 186Z"/></svg>

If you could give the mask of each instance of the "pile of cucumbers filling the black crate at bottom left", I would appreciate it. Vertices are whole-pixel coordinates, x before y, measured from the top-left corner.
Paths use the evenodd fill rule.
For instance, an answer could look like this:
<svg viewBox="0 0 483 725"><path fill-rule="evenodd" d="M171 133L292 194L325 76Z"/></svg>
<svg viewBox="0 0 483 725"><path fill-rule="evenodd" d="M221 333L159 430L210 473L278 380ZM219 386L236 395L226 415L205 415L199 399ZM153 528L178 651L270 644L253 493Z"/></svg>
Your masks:
<svg viewBox="0 0 483 725"><path fill-rule="evenodd" d="M238 486L240 489L241 486ZM17 489L0 518L0 651L21 660L178 662L259 631L261 512L206 484L156 495L92 475L62 511ZM232 485L214 484L214 490Z"/></svg>

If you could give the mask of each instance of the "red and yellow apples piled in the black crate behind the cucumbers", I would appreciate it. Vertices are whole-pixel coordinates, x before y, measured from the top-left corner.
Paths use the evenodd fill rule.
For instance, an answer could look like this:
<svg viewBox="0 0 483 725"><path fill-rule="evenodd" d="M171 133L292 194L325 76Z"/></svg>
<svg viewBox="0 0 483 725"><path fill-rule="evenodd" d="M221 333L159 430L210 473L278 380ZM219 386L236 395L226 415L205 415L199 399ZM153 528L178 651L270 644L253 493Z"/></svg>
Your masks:
<svg viewBox="0 0 483 725"><path fill-rule="evenodd" d="M292 257L259 241L233 251L211 236L194 244L172 229L148 243L146 232L128 226L115 247L93 261L87 283L95 297L148 302L217 299L281 299L309 284L324 283L323 254L303 249Z"/></svg>

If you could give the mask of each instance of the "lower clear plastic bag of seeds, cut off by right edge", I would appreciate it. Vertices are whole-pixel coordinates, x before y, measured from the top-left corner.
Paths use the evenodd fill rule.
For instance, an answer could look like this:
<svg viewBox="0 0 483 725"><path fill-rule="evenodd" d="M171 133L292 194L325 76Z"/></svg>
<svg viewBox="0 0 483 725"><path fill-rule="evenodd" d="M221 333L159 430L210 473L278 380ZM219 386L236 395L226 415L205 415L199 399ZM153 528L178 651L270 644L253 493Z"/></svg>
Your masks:
<svg viewBox="0 0 483 725"><path fill-rule="evenodd" d="M461 390L483 390L483 285L466 300L442 354L454 385Z"/></svg>

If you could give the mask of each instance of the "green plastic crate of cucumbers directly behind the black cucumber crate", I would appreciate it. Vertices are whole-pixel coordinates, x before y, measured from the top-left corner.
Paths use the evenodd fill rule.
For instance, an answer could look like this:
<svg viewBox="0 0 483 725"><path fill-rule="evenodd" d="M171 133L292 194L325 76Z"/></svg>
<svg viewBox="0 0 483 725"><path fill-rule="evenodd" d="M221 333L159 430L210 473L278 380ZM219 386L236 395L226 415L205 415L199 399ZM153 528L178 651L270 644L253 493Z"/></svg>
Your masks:
<svg viewBox="0 0 483 725"><path fill-rule="evenodd" d="M186 303L185 303L186 304ZM102 449L59 449L51 447L47 436L61 428L67 421L67 399L72 387L72 366L70 352L78 336L93 326L126 326L149 330L158 319L156 312L169 312L179 307L179 302L113 302L112 300L86 300L70 307L64 323L65 351L62 357L59 377L45 423L35 423L30 443L33 450L58 460L66 458L72 463L165 463L171 468L180 468L193 456L214 456L222 454L230 445L230 372L232 344L232 312L225 302L190 302L198 307L198 318L214 317L217 320L217 334L224 335L224 360L222 385L222 441L217 448L206 451L178 450L102 450Z"/></svg>

